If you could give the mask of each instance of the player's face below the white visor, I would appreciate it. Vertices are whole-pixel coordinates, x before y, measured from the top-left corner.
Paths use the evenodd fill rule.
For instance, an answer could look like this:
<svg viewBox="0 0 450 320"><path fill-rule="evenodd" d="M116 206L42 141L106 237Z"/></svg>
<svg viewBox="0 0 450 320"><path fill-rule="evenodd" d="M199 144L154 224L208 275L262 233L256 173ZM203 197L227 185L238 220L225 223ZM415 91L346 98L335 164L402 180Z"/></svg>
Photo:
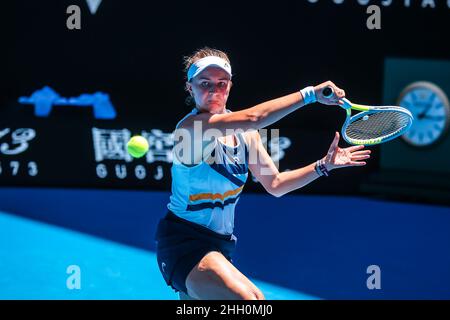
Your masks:
<svg viewBox="0 0 450 320"><path fill-rule="evenodd" d="M225 112L231 89L230 76L218 67L208 67L188 83L197 108L210 113Z"/></svg>

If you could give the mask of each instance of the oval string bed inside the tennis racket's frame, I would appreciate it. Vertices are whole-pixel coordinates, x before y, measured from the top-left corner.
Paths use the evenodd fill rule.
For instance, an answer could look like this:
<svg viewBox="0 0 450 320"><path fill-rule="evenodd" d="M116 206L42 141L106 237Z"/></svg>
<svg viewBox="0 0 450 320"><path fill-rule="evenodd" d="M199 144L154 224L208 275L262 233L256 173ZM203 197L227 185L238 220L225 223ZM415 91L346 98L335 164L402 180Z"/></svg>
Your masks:
<svg viewBox="0 0 450 320"><path fill-rule="evenodd" d="M402 134L410 121L410 116L400 111L369 112L365 117L352 120L345 132L354 140L383 139Z"/></svg>

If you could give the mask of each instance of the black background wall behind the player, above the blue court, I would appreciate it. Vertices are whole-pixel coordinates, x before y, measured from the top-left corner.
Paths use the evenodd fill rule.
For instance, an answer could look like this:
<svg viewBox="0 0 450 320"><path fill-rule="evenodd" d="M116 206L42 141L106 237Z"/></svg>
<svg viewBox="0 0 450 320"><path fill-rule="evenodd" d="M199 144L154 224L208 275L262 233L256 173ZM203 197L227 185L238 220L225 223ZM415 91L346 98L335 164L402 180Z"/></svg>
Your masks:
<svg viewBox="0 0 450 320"><path fill-rule="evenodd" d="M307 85L332 80L356 102L381 104L383 66L387 57L449 59L450 9L445 1L422 8L421 1L380 5L381 30L366 27L364 1L275 2L124 2L103 1L91 14L85 1L13 1L3 4L2 90L0 128L34 128L36 138L26 153L0 154L3 185L156 188L170 186L170 163L137 164L164 179L99 179L92 145L92 127L128 128L132 134L160 129L171 132L190 108L184 105L182 57L203 46L229 53L234 86L231 110L289 94ZM66 8L81 8L81 30L66 28ZM17 102L44 86L63 97L101 91L117 111L114 120L98 120L89 108L54 108L47 118ZM314 104L282 119L280 128L291 146L280 169L295 169L322 157L345 116L336 107ZM10 136L5 136L8 142ZM342 142L342 145L345 145ZM35 161L34 177L19 170ZM106 161L109 171L121 161ZM336 171L301 192L357 193L369 173L379 169L379 147L365 168ZM342 187L344 186L344 187ZM249 190L261 190L249 182Z"/></svg>

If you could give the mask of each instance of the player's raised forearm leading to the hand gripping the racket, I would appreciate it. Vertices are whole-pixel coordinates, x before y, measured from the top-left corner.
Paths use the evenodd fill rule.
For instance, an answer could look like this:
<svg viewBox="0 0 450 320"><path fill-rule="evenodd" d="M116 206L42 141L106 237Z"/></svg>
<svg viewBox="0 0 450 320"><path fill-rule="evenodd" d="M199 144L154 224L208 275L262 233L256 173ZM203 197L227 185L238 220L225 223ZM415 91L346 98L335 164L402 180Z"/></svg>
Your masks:
<svg viewBox="0 0 450 320"><path fill-rule="evenodd" d="M257 128L267 127L289 113L301 108L304 105L303 97L300 92L295 92L277 99L260 103L247 111L255 119Z"/></svg>

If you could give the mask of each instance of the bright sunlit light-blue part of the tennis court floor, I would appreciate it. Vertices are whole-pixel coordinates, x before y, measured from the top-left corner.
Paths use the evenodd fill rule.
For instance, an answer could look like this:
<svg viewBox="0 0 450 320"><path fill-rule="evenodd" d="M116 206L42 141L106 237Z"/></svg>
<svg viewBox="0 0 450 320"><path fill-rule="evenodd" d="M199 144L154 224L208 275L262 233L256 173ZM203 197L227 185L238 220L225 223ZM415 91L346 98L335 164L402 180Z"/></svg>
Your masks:
<svg viewBox="0 0 450 320"><path fill-rule="evenodd" d="M0 299L178 299L152 252L3 212L0 225ZM72 265L80 268L79 290L66 285ZM256 283L271 299L315 298Z"/></svg>

